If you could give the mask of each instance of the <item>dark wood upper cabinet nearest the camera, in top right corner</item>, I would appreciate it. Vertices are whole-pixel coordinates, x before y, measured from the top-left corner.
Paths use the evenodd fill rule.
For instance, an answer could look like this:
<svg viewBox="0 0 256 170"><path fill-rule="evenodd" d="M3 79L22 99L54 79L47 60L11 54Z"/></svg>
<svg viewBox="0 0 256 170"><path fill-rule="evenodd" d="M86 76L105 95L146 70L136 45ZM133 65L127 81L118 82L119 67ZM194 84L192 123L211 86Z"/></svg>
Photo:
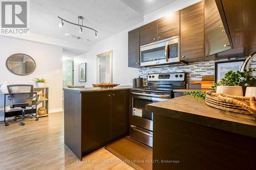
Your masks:
<svg viewBox="0 0 256 170"><path fill-rule="evenodd" d="M247 56L256 50L256 1L222 0L234 50L242 50Z"/></svg>

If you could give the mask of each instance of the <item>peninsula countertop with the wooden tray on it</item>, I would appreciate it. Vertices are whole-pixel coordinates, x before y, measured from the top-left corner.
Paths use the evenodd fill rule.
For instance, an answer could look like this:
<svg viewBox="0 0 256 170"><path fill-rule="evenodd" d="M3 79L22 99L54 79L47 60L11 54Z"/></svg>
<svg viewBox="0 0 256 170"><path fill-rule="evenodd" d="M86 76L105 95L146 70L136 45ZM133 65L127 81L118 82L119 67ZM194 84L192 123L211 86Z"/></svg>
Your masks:
<svg viewBox="0 0 256 170"><path fill-rule="evenodd" d="M127 90L132 87L133 86L116 86L113 88L86 87L86 88L63 88L63 90L77 92L77 93L83 93L83 92L95 92L95 91Z"/></svg>

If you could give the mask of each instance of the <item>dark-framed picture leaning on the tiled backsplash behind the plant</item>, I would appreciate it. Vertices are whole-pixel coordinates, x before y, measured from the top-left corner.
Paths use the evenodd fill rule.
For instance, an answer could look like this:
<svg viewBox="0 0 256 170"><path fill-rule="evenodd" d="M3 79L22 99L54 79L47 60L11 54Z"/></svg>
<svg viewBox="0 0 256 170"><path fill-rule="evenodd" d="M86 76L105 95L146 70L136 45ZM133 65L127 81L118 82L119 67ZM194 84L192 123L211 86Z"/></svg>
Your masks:
<svg viewBox="0 0 256 170"><path fill-rule="evenodd" d="M237 72L245 60L221 61L215 63L215 82L221 81L229 70Z"/></svg>

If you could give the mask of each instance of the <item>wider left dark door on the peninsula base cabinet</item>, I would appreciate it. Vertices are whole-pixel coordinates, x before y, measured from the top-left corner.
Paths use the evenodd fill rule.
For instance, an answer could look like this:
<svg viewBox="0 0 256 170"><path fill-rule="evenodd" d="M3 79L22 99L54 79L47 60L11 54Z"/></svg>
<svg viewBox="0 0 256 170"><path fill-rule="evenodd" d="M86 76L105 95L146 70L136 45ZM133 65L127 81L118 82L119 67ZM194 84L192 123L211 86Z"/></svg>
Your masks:
<svg viewBox="0 0 256 170"><path fill-rule="evenodd" d="M111 92L82 93L82 151L91 152L110 140Z"/></svg>

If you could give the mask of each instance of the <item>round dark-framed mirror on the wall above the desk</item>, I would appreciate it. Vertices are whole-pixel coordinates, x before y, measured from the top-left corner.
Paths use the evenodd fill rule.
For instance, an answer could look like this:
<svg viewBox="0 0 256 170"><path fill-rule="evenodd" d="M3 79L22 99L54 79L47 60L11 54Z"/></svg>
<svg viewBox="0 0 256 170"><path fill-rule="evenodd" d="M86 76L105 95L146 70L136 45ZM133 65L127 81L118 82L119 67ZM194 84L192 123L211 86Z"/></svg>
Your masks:
<svg viewBox="0 0 256 170"><path fill-rule="evenodd" d="M26 54L13 54L6 60L6 67L15 75L30 75L36 67L35 61Z"/></svg>

